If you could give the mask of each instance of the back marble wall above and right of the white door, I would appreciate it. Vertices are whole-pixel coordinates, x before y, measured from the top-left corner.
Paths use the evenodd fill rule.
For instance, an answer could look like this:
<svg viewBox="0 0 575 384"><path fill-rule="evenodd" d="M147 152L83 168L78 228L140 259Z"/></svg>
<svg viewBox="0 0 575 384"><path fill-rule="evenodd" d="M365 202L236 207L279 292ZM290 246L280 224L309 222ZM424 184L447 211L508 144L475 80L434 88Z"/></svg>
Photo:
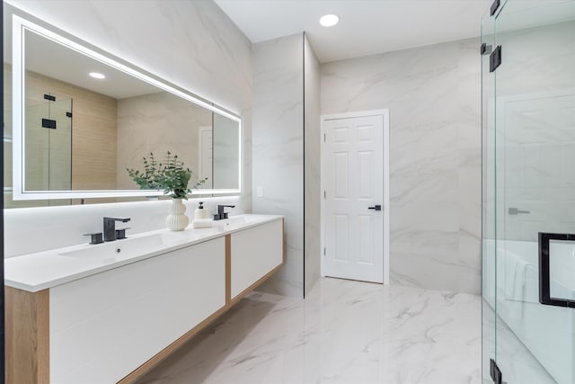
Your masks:
<svg viewBox="0 0 575 384"><path fill-rule="evenodd" d="M393 283L481 290L479 39L321 66L322 113L389 108Z"/></svg>

